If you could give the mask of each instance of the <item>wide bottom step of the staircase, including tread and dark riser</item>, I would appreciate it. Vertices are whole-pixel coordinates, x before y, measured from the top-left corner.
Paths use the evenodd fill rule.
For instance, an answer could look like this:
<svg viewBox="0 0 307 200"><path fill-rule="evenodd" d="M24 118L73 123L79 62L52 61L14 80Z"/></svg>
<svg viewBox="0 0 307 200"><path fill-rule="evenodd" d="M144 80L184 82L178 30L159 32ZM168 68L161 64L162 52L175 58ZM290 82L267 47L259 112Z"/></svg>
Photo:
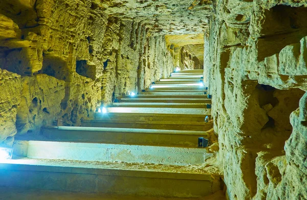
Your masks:
<svg viewBox="0 0 307 200"><path fill-rule="evenodd" d="M204 197L221 190L222 185L220 175L208 171L161 165L19 158L0 164L0 186L95 193L100 196L107 193ZM46 197L48 196L39 199L47 199ZM35 198L31 196L29 199ZM79 199L79 196L75 199Z"/></svg>

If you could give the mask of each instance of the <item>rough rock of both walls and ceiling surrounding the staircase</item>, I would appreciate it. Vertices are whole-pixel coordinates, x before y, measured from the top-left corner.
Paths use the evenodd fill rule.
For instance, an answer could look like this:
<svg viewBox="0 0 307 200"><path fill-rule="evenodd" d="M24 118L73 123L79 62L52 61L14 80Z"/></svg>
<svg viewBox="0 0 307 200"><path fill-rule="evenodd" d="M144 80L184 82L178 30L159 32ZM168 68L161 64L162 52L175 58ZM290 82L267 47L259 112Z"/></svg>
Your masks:
<svg viewBox="0 0 307 200"><path fill-rule="evenodd" d="M228 198L307 199L306 7L296 0L1 1L0 142L56 119L80 125L100 104L175 66L203 65Z"/></svg>

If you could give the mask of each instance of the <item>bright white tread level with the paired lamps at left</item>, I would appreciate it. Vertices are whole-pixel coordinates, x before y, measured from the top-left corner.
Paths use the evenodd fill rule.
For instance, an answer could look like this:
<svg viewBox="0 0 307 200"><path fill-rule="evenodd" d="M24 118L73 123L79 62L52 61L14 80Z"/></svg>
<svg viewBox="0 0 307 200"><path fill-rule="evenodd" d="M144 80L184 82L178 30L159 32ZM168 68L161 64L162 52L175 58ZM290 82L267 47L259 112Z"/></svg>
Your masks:
<svg viewBox="0 0 307 200"><path fill-rule="evenodd" d="M187 114L187 115L211 115L211 109L206 108L206 105L194 106L194 107L130 107L131 105L117 106L117 107L106 107L107 113L157 113L157 114ZM141 105L140 105L141 106ZM203 108L205 107L205 108ZM201 108L201 109L200 109ZM102 114L102 113L101 113ZM103 114L102 114L103 115ZM106 115L106 114L105 114Z"/></svg>

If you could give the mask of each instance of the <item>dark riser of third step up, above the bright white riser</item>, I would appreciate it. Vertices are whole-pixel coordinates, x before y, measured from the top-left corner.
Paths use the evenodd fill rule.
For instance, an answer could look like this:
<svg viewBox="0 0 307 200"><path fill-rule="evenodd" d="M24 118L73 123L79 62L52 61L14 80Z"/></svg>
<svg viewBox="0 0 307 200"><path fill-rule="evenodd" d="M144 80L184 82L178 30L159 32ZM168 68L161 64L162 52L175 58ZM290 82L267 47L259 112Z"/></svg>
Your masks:
<svg viewBox="0 0 307 200"><path fill-rule="evenodd" d="M50 140L77 141L77 142L98 142L98 143L124 143L136 145L166 145L197 147L199 137L209 136L200 135L175 135L175 134L155 134L143 132L103 132L103 131L84 131L84 130L57 130L42 128L41 135Z"/></svg>

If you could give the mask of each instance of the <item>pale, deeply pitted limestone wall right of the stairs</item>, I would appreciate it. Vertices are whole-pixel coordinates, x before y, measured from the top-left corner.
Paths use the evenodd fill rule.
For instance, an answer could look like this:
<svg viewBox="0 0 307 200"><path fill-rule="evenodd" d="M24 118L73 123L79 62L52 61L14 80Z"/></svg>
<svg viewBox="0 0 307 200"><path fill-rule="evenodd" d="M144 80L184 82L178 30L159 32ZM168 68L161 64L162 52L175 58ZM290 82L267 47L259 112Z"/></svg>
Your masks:
<svg viewBox="0 0 307 200"><path fill-rule="evenodd" d="M211 16L204 77L213 94L229 199L307 197L307 10L302 6L307 4L217 1Z"/></svg>

